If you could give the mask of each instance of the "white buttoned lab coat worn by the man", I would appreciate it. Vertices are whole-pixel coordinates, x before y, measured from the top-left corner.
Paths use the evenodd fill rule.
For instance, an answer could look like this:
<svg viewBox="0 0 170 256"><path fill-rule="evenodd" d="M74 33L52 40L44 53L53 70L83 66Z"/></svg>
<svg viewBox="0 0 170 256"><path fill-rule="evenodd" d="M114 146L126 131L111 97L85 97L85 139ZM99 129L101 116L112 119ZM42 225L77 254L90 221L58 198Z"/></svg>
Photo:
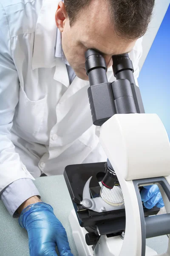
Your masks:
<svg viewBox="0 0 170 256"><path fill-rule="evenodd" d="M76 77L70 85L65 64L55 58L58 2L0 0L0 191L20 178L106 160L88 81ZM129 54L135 79L141 41ZM112 68L108 80L115 80Z"/></svg>

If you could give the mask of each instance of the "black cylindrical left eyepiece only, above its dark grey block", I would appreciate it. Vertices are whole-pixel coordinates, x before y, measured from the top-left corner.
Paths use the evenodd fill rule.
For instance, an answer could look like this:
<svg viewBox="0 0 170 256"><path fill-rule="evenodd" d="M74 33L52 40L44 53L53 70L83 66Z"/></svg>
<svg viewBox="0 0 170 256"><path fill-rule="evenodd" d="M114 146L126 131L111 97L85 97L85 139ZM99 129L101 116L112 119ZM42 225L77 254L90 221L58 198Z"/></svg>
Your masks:
<svg viewBox="0 0 170 256"><path fill-rule="evenodd" d="M85 58L85 69L89 77L90 86L107 83L107 67L102 55L93 49L89 49L85 52Z"/></svg>

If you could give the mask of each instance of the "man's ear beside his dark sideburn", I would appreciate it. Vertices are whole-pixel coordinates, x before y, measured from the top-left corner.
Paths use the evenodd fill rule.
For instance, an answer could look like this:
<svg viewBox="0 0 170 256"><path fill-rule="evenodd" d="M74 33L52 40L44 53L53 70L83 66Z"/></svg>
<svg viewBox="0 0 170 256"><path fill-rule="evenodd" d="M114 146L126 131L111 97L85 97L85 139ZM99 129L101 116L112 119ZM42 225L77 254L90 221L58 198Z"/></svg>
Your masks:
<svg viewBox="0 0 170 256"><path fill-rule="evenodd" d="M65 4L63 2L58 3L57 11L55 14L56 25L60 32L63 32L65 19L68 17L68 14L65 9Z"/></svg>

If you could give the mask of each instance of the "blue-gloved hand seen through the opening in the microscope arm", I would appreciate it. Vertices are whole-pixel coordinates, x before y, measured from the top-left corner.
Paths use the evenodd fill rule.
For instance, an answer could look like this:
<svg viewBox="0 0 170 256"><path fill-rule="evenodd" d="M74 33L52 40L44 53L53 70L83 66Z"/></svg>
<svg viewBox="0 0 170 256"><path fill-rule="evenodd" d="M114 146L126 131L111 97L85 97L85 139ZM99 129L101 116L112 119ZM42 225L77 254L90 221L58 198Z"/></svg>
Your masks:
<svg viewBox="0 0 170 256"><path fill-rule="evenodd" d="M152 209L154 206L164 207L164 201L157 185L144 186L141 191L141 199L147 209Z"/></svg>

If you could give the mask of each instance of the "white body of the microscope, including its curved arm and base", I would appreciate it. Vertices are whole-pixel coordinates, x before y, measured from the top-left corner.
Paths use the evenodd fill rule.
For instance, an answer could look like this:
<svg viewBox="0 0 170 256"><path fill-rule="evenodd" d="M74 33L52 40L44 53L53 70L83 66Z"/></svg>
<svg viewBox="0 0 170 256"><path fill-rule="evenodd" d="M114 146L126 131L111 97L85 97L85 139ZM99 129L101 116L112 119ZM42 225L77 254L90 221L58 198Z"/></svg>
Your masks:
<svg viewBox="0 0 170 256"><path fill-rule="evenodd" d="M115 114L101 126L99 140L122 188L126 213L125 237L101 236L92 250L85 242L87 232L79 226L73 210L70 223L79 256L155 256L157 253L145 246L146 230L140 212L142 202L136 194L135 180L140 180L142 186L157 183L154 178L159 180L164 177L169 186L170 143L164 125L156 114ZM168 214L170 201L162 186L157 184ZM165 223L159 223L159 229L165 226ZM170 256L170 240L167 253L161 256Z"/></svg>

